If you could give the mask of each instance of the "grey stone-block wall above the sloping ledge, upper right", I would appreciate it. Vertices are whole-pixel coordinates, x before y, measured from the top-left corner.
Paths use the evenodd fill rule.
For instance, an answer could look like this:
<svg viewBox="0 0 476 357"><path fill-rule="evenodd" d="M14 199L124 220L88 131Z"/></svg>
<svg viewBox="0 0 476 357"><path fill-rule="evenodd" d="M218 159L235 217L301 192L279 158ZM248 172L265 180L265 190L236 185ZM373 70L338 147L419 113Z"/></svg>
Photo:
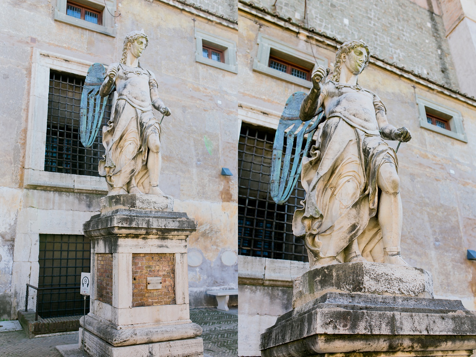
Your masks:
<svg viewBox="0 0 476 357"><path fill-rule="evenodd" d="M362 39L377 57L458 88L441 16L410 0L252 1L339 41ZM334 59L331 60L334 62Z"/></svg>

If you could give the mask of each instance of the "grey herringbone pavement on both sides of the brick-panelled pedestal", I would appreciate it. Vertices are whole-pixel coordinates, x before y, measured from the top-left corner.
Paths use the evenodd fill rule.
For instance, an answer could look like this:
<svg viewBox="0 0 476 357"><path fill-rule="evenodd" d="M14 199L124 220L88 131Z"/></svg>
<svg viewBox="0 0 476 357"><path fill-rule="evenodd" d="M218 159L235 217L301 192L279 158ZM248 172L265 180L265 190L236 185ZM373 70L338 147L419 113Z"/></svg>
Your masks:
<svg viewBox="0 0 476 357"><path fill-rule="evenodd" d="M203 328L205 354L212 357L238 356L238 308L228 312L213 307L192 308L190 318ZM78 342L78 333L28 338L23 330L0 332L1 357L60 357L56 346Z"/></svg>

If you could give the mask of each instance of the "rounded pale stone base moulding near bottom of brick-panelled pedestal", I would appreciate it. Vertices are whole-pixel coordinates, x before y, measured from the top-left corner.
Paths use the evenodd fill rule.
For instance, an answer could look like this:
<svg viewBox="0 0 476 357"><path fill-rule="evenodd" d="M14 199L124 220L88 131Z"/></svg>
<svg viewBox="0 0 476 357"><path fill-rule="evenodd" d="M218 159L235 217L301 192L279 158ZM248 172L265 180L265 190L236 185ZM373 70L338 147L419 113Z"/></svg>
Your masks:
<svg viewBox="0 0 476 357"><path fill-rule="evenodd" d="M191 320L176 321L174 325L168 323L163 326L154 324L128 327L94 318L94 315L87 315L86 318L81 317L79 323L114 347L193 338L202 333L202 328Z"/></svg>

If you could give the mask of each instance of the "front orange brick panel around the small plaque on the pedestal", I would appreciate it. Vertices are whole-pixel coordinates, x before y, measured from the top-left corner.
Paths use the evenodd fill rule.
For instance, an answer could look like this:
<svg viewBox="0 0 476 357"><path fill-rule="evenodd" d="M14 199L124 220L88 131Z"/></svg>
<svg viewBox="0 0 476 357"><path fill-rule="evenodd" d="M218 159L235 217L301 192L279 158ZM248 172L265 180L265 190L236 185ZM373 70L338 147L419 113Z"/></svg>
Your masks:
<svg viewBox="0 0 476 357"><path fill-rule="evenodd" d="M162 288L148 289L147 278L162 278ZM175 304L175 255L132 254L132 307Z"/></svg>

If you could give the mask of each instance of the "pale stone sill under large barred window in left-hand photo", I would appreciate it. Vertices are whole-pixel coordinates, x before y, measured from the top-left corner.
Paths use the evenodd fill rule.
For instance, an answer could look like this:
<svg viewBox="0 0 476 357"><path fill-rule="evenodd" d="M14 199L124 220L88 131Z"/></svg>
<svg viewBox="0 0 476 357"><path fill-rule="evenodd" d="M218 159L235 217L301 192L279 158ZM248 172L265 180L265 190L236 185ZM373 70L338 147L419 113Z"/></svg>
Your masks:
<svg viewBox="0 0 476 357"><path fill-rule="evenodd" d="M25 169L25 188L48 189L92 194L107 194L106 180L102 177L63 174Z"/></svg>

